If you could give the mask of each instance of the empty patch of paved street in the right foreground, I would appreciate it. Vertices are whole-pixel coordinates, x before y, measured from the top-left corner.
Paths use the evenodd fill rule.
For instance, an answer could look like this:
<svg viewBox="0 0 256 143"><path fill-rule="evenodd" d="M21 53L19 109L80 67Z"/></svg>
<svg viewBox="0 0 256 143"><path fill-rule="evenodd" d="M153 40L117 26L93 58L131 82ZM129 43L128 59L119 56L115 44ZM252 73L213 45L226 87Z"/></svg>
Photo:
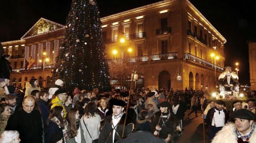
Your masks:
<svg viewBox="0 0 256 143"><path fill-rule="evenodd" d="M204 143L203 137L203 119L201 118L201 111L197 112L199 117L195 117L193 112L189 118L188 113L190 110L185 112L184 123L183 123L183 134L178 139L177 143ZM206 130L206 128L205 128ZM209 143L208 137L205 133L205 143Z"/></svg>

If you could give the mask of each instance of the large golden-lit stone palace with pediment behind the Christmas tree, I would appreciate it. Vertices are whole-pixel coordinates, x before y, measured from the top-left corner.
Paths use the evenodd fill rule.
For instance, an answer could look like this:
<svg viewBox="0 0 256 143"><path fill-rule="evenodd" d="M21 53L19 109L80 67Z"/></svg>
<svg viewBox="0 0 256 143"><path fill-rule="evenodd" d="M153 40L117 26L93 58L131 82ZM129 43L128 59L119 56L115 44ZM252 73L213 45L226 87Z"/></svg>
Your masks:
<svg viewBox="0 0 256 143"><path fill-rule="evenodd" d="M141 68L145 69L144 75L138 77L140 83L136 84L139 85L137 87L160 88L164 85L168 88L178 69L182 81L175 81L174 89L215 88L214 77L217 79L224 67L226 39L188 0L164 0L103 17L101 21L107 59L114 58L114 49L129 47L133 49L128 55L130 61L138 59ZM47 86L64 28L63 25L41 18L20 41L2 43L6 53L9 50L13 52L15 45L18 45L16 42L25 44L18 46L18 54L22 55L23 50L25 60L17 61L20 63L17 69L20 70L17 70L17 75L11 75L11 84L13 78L21 78L24 87L25 82L35 77L41 85ZM119 42L122 37L125 38L123 44ZM43 59L43 52L46 52L44 57L50 58L44 66L39 62ZM36 61L34 67L29 70L23 68L25 61L31 58ZM12 59L12 66L15 60Z"/></svg>

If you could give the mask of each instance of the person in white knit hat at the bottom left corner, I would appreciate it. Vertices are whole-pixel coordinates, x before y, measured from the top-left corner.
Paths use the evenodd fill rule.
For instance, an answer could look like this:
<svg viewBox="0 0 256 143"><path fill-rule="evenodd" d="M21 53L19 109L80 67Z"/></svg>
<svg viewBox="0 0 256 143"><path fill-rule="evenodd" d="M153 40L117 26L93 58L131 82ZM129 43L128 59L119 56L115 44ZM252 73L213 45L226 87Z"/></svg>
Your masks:
<svg viewBox="0 0 256 143"><path fill-rule="evenodd" d="M19 137L18 131L5 130L0 137L0 143L19 143L21 141Z"/></svg>

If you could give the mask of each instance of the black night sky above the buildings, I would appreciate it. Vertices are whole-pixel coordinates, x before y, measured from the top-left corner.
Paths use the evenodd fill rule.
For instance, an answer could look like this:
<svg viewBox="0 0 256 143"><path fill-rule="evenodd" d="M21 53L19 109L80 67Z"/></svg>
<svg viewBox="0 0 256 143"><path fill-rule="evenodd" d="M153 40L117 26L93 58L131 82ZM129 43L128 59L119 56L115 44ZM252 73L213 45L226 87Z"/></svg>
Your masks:
<svg viewBox="0 0 256 143"><path fill-rule="evenodd" d="M98 0L101 17L161 0ZM190 0L191 3L227 39L225 66L240 63L240 83L249 83L247 40L256 36L253 0ZM1 0L0 41L18 40L43 17L60 24L71 8L71 0Z"/></svg>

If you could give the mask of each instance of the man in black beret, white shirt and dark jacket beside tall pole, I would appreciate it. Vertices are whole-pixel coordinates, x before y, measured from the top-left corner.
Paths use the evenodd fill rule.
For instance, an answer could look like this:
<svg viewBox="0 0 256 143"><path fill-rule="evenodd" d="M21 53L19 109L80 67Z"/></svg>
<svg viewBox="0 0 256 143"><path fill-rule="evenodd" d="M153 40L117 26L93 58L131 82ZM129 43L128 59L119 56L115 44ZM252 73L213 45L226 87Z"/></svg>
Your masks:
<svg viewBox="0 0 256 143"><path fill-rule="evenodd" d="M113 115L107 116L104 119L104 125L99 134L99 143L114 143L116 140L122 139L123 125L125 121L125 102L123 100L116 100L113 102ZM130 135L133 131L134 124L131 117L127 116L125 124L124 137Z"/></svg>

